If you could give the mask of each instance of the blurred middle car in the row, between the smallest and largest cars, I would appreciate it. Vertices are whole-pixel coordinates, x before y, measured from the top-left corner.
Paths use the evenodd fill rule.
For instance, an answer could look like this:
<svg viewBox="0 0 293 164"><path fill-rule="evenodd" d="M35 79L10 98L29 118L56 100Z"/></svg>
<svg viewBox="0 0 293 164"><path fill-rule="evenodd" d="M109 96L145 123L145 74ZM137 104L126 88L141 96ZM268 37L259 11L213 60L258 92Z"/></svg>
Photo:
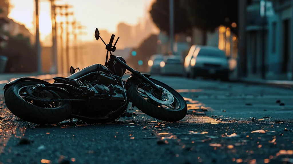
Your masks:
<svg viewBox="0 0 293 164"><path fill-rule="evenodd" d="M178 55L165 56L164 61L160 63L162 75L183 76L183 59Z"/></svg>

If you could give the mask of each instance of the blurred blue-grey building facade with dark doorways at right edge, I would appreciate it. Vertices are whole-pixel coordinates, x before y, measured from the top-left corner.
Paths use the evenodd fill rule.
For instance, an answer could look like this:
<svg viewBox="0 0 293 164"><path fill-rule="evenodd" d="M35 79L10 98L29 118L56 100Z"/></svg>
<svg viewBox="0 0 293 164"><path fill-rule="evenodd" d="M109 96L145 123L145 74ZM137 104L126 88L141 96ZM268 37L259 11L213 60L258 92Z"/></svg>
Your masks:
<svg viewBox="0 0 293 164"><path fill-rule="evenodd" d="M292 7L292 0L248 1L246 77L292 80Z"/></svg>

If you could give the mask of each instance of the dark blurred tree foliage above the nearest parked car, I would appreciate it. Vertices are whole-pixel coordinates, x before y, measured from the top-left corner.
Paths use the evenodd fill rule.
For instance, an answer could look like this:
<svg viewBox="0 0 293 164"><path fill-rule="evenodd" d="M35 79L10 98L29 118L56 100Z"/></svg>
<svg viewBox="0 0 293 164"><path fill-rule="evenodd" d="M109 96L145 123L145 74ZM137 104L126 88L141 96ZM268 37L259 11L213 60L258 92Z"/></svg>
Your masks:
<svg viewBox="0 0 293 164"><path fill-rule="evenodd" d="M181 7L185 8L193 27L207 32L223 25L238 35L238 28L232 27L233 22L238 23L238 0L184 0Z"/></svg>

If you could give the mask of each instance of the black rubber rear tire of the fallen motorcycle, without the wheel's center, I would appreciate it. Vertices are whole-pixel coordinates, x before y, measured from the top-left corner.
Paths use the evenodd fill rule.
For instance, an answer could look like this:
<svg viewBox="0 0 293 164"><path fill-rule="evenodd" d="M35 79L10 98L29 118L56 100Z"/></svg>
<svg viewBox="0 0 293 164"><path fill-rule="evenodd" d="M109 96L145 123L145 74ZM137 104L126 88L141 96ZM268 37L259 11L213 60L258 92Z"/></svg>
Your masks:
<svg viewBox="0 0 293 164"><path fill-rule="evenodd" d="M59 102L58 107L44 108L34 105L35 102L33 102L34 104L29 103L21 97L19 93L21 88L36 84L40 84L40 82L21 81L6 88L4 94L6 107L15 116L30 123L49 125L66 120L71 114L70 102ZM50 93L56 94L60 99L69 99L66 94L61 92L50 90Z"/></svg>

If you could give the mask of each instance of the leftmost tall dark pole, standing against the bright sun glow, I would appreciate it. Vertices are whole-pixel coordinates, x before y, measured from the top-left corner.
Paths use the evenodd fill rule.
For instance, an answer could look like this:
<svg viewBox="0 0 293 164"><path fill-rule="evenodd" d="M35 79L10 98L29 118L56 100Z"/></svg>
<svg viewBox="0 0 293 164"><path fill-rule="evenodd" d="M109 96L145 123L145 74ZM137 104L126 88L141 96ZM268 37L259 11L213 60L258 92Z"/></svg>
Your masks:
<svg viewBox="0 0 293 164"><path fill-rule="evenodd" d="M39 0L35 0L35 10L36 10L36 41L35 48L38 56L38 73L42 73L42 56L41 56L41 46L40 46L40 32L39 32Z"/></svg>

